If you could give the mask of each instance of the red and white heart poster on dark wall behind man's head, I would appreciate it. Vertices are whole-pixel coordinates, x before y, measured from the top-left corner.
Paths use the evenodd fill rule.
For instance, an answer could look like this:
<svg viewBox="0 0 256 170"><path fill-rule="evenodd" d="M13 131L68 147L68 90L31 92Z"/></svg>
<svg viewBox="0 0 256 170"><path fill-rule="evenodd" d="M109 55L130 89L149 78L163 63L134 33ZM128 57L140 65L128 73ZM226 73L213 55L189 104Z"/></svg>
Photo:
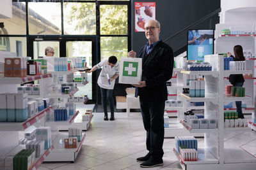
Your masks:
<svg viewBox="0 0 256 170"><path fill-rule="evenodd" d="M144 32L148 20L156 20L156 3L135 2L135 32Z"/></svg>

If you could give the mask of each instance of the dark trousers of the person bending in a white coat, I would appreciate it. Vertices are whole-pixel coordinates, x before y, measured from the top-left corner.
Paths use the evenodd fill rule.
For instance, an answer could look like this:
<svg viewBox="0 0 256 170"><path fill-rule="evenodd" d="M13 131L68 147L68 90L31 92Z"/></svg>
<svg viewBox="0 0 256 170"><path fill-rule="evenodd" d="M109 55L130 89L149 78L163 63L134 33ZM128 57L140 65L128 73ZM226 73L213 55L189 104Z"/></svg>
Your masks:
<svg viewBox="0 0 256 170"><path fill-rule="evenodd" d="M103 89L100 87L101 92L101 102L103 106L104 113L108 112L108 101L111 113L114 113L114 99L113 99L113 89Z"/></svg>

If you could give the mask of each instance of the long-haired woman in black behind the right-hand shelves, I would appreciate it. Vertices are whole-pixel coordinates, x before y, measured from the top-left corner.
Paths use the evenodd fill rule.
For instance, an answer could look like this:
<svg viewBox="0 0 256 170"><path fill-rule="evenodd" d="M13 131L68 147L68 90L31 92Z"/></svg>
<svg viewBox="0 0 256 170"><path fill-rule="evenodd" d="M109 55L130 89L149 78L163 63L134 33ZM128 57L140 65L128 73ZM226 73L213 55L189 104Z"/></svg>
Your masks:
<svg viewBox="0 0 256 170"><path fill-rule="evenodd" d="M243 53L243 47L241 45L234 46L235 57L233 55L231 55L230 52L228 52L228 55L230 57L233 57L234 61L245 60L244 53ZM243 87L243 84L244 84L243 74L230 74L229 82L235 87ZM244 115L242 113L242 102L241 101L236 101L236 108L237 108L238 118L244 118Z"/></svg>

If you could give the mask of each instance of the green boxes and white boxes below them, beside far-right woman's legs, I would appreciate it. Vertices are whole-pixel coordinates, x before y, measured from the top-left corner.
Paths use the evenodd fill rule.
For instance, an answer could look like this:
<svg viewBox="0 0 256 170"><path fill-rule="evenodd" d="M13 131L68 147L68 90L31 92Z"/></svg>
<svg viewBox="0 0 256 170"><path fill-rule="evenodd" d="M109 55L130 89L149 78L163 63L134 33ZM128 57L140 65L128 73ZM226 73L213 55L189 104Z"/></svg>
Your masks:
<svg viewBox="0 0 256 170"><path fill-rule="evenodd" d="M224 111L225 127L248 127L246 119L238 118L237 111Z"/></svg>

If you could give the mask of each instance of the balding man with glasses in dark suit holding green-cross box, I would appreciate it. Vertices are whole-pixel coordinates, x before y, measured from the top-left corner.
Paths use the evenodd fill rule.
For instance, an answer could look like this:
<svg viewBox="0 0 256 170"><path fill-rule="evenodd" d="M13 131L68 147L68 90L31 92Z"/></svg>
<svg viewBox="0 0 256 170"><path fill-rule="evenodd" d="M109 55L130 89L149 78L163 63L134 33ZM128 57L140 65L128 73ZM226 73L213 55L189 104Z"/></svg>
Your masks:
<svg viewBox="0 0 256 170"><path fill-rule="evenodd" d="M128 57L142 59L142 76L136 87L135 96L140 96L140 108L143 125L147 131L147 150L141 167L163 165L164 141L164 102L167 100L166 81L172 78L173 50L159 40L160 24L157 20L149 20L145 24L145 36L148 39L139 55L131 50Z"/></svg>

